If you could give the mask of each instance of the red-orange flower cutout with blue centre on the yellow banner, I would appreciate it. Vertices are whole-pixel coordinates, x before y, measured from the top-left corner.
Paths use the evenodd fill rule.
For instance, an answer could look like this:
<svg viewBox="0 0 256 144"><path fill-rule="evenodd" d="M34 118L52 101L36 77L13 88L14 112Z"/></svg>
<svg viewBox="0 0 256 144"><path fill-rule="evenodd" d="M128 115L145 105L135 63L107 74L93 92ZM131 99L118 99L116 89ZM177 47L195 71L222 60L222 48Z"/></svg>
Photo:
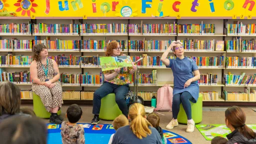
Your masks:
<svg viewBox="0 0 256 144"><path fill-rule="evenodd" d="M34 0L18 0L17 3L15 3L15 6L18 6L16 9L16 12L19 12L22 10L21 15L27 14L27 16L30 16L30 10L34 13L35 10L33 7L36 7L36 3L32 3Z"/></svg>

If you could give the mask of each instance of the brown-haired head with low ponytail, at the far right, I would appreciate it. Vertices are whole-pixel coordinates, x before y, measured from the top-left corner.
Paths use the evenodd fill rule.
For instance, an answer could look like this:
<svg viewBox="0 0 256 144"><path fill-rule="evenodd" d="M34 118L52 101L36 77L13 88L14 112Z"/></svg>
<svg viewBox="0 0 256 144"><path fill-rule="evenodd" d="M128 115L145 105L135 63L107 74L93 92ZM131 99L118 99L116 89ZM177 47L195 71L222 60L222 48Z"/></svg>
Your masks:
<svg viewBox="0 0 256 144"><path fill-rule="evenodd" d="M225 123L231 129L237 129L244 137L255 138L256 134L246 124L246 115L241 107L231 106L225 110Z"/></svg>

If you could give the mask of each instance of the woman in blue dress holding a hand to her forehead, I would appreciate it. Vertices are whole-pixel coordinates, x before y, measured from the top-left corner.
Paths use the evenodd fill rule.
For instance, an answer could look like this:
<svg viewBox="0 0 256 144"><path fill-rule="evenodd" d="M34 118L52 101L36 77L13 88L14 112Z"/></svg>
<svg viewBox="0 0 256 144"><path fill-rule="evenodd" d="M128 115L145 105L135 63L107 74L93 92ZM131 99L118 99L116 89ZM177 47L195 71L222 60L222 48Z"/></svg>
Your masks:
<svg viewBox="0 0 256 144"><path fill-rule="evenodd" d="M172 50L176 59L167 59L169 51ZM179 105L182 103L187 116L186 132L194 131L194 121L191 116L190 101L196 103L199 95L199 85L195 82L200 79L200 73L194 60L184 56L184 48L179 41L173 41L163 52L161 61L173 72L173 98L172 98L172 120L166 129L172 129L178 125L177 115ZM193 73L195 76L193 76Z"/></svg>

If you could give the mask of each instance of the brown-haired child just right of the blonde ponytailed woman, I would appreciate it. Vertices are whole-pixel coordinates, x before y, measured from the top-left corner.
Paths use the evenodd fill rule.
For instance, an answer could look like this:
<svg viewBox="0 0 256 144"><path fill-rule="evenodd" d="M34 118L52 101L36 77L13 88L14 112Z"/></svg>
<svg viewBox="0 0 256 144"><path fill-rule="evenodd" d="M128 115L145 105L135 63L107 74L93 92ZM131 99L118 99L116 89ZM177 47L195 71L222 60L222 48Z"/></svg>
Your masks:
<svg viewBox="0 0 256 144"><path fill-rule="evenodd" d="M161 138L162 138L162 144L167 143L166 139L164 139L163 137L163 132L162 132L162 128L159 126L160 123L160 118L157 114L150 113L147 115L146 120L152 124L152 126L159 132Z"/></svg>

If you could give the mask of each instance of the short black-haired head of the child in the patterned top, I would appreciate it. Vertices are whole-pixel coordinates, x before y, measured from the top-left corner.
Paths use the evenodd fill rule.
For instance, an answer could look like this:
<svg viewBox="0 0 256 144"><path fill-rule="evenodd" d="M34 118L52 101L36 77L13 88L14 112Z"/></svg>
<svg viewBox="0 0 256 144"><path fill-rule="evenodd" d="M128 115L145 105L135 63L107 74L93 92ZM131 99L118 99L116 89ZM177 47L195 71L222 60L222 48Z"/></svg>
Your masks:
<svg viewBox="0 0 256 144"><path fill-rule="evenodd" d="M66 110L66 117L70 123L76 123L82 116L82 109L77 104L68 106Z"/></svg>

